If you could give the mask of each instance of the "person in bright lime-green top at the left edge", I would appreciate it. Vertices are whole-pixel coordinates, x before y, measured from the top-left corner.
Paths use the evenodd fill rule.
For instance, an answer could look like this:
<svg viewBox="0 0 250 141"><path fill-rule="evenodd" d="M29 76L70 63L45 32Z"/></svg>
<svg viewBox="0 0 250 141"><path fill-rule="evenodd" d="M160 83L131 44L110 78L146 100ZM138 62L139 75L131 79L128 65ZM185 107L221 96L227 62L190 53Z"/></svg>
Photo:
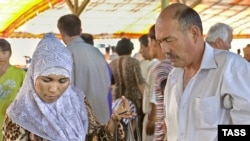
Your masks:
<svg viewBox="0 0 250 141"><path fill-rule="evenodd" d="M10 64L11 45L5 39L0 39L0 129L4 122L7 107L16 97L26 72ZM0 141L2 132L0 132Z"/></svg>

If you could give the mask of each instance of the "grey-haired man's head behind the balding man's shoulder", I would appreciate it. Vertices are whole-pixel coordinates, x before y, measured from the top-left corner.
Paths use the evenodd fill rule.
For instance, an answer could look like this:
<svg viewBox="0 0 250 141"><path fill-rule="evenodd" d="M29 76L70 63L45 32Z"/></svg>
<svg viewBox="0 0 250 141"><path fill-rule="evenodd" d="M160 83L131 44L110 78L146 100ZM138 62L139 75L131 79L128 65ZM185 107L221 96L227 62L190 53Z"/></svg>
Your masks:
<svg viewBox="0 0 250 141"><path fill-rule="evenodd" d="M206 42L217 49L231 49L233 28L224 23L216 23L208 30Z"/></svg>

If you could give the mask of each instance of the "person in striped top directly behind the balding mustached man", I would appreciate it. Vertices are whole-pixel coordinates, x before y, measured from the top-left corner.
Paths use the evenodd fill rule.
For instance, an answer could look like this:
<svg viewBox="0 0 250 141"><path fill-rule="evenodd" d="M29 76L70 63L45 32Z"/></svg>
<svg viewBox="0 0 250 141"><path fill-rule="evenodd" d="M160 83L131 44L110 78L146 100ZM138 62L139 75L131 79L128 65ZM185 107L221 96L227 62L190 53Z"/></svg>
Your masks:
<svg viewBox="0 0 250 141"><path fill-rule="evenodd" d="M146 127L147 134L153 136L153 141L163 141L166 133L166 127L164 123L164 88L167 82L168 75L173 69L172 64L166 58L164 52L160 47L159 41L155 39L155 25L152 25L148 33L149 40L149 53L152 58L156 58L160 61L154 69L155 83L154 92L150 99L151 111L149 113L148 123ZM154 128L153 128L154 127Z"/></svg>

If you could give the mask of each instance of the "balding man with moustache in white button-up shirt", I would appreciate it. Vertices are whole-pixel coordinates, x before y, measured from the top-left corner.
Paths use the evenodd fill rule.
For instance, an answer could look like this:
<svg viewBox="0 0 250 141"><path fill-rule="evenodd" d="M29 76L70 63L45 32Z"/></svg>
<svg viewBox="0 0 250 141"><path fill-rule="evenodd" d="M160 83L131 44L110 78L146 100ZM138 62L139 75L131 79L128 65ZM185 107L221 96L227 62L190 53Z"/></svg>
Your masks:
<svg viewBox="0 0 250 141"><path fill-rule="evenodd" d="M156 21L156 39L175 67L164 91L168 141L217 141L218 125L250 124L250 65L212 48L201 18L175 3Z"/></svg>

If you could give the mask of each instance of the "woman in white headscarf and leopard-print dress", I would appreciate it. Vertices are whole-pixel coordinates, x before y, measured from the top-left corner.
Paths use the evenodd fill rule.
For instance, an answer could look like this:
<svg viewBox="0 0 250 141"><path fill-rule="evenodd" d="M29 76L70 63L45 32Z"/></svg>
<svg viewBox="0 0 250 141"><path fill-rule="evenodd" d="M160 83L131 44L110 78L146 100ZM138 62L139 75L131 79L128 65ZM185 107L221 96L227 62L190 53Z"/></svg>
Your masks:
<svg viewBox="0 0 250 141"><path fill-rule="evenodd" d="M17 98L7 110L4 141L112 138L117 117L112 116L107 125L95 120L84 94L70 85L72 65L69 50L53 34L46 34L33 54Z"/></svg>

